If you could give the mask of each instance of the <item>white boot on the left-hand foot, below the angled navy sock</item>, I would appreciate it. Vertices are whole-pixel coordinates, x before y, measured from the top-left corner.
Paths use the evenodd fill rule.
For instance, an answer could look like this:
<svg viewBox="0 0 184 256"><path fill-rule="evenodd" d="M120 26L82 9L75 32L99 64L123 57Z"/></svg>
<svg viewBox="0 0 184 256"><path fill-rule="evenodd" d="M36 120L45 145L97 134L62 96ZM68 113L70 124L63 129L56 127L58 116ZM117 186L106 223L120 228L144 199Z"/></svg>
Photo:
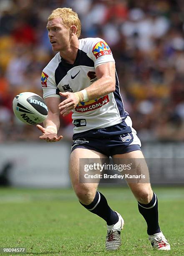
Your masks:
<svg viewBox="0 0 184 256"><path fill-rule="evenodd" d="M107 225L106 250L116 251L121 246L121 229L124 226L124 219L116 212L119 220L116 224Z"/></svg>

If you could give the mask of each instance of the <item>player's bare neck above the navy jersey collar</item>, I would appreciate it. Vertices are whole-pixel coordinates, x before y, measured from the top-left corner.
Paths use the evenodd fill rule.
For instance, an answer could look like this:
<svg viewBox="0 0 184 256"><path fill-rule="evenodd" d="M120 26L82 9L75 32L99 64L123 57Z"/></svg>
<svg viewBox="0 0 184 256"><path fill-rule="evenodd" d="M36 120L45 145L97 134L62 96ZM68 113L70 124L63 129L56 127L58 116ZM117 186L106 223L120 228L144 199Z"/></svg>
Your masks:
<svg viewBox="0 0 184 256"><path fill-rule="evenodd" d="M73 64L76 60L77 52L79 47L78 39L72 41L67 49L60 51L60 56L69 64Z"/></svg>

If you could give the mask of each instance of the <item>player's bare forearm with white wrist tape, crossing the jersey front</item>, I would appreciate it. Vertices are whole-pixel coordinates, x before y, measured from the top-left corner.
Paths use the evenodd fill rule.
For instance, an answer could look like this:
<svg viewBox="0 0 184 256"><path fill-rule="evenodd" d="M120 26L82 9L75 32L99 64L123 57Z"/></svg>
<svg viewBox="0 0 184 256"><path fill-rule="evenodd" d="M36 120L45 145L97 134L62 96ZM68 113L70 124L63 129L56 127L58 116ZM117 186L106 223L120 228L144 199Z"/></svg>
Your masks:
<svg viewBox="0 0 184 256"><path fill-rule="evenodd" d="M76 92L79 96L80 101L94 100L100 97L103 97L111 92L114 92L116 89L116 80L115 77L102 77L96 82L91 84L86 88L86 92L79 91Z"/></svg>

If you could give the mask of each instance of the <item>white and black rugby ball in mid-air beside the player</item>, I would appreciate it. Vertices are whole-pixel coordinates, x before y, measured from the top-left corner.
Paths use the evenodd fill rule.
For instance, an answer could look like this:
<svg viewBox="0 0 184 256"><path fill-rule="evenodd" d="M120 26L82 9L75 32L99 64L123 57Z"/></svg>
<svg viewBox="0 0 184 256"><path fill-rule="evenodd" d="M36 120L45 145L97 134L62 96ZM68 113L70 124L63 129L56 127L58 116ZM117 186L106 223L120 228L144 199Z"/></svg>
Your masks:
<svg viewBox="0 0 184 256"><path fill-rule="evenodd" d="M42 97L33 92L22 92L13 99L13 112L23 123L42 123L48 115L48 108Z"/></svg>

